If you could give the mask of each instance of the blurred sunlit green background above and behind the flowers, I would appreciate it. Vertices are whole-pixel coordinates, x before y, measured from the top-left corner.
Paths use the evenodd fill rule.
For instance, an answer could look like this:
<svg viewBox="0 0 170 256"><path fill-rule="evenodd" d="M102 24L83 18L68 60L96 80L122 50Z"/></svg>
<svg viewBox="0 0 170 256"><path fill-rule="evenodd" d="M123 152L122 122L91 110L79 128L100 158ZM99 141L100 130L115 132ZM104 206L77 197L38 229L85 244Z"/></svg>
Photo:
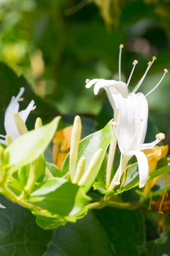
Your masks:
<svg viewBox="0 0 170 256"><path fill-rule="evenodd" d="M155 55L157 61L139 91L153 88L170 66L169 12L169 0L0 0L1 132L10 97L21 86L26 88L22 106L33 98L37 104L29 128L35 115L47 122L58 113L65 115L66 123L78 113L104 127L113 115L106 94L101 90L95 97L92 89L85 88L85 80L116 79L119 44L124 43L123 80L127 81L133 60L138 60L131 90ZM149 139L160 129L167 133L166 143L169 82L168 74L148 97Z"/></svg>

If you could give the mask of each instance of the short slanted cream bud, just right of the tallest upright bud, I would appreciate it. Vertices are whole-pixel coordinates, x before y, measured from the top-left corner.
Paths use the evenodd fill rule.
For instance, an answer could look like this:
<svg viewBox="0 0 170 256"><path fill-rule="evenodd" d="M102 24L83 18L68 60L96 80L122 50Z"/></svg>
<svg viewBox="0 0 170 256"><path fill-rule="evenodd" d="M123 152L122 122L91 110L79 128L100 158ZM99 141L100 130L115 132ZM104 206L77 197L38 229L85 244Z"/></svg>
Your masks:
<svg viewBox="0 0 170 256"><path fill-rule="evenodd" d="M96 165L98 164L102 151L103 151L102 148L100 148L92 156L92 159L89 162L89 166L86 169L84 176L81 178L81 180L78 183L79 186L83 186L86 183L86 181L89 180L89 177L91 176L92 172L95 170Z"/></svg>

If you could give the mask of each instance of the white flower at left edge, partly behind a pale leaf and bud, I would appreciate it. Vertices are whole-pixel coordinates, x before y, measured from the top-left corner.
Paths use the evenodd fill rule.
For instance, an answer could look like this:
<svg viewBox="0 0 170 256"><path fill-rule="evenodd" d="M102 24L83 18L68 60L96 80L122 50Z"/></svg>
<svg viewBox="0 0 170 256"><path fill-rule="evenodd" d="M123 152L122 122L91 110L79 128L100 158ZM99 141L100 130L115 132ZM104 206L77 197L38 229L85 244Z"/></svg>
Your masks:
<svg viewBox="0 0 170 256"><path fill-rule="evenodd" d="M34 100L31 100L31 103L29 103L28 107L19 112L19 101L23 100L21 96L24 93L24 91L25 88L20 88L19 94L16 97L12 97L12 99L10 100L10 104L9 106L7 106L7 110L4 114L4 129L7 135L10 135L10 138L12 138L12 140L15 140L20 135L19 130L16 127L16 122L13 117L13 113L19 113L20 118L22 118L22 121L25 123L30 112L36 108L36 106L34 106ZM0 143L7 144L5 141L6 136L0 135L0 137L4 138L0 139Z"/></svg>

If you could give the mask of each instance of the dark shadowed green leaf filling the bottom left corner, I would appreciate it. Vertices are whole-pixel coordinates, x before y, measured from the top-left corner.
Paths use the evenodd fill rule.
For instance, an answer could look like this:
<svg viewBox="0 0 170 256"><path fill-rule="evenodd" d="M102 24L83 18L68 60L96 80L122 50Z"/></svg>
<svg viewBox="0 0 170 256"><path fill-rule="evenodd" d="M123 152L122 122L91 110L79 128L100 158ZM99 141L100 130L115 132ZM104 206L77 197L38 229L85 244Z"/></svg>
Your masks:
<svg viewBox="0 0 170 256"><path fill-rule="evenodd" d="M0 196L0 255L42 256L52 238L51 231L44 231L35 222L31 212Z"/></svg>

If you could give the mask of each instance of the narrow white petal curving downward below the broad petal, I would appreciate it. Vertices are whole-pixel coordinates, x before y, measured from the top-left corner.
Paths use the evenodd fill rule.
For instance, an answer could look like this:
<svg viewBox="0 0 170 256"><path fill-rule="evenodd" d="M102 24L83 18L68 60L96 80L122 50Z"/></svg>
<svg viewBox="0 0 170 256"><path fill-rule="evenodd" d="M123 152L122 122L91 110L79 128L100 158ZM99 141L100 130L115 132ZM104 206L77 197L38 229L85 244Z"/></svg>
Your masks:
<svg viewBox="0 0 170 256"><path fill-rule="evenodd" d="M134 151L139 168L139 188L145 186L148 180L148 159L142 151Z"/></svg>

